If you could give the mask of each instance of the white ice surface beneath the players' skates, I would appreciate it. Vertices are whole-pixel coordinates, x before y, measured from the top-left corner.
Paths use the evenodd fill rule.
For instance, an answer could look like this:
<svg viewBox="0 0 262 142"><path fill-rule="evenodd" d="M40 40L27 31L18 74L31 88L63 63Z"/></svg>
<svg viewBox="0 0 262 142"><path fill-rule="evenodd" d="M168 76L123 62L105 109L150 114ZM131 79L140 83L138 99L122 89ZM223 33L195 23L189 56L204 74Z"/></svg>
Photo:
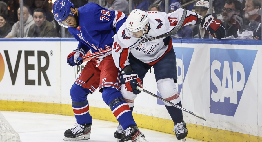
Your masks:
<svg viewBox="0 0 262 142"><path fill-rule="evenodd" d="M64 132L74 127L74 116L30 112L1 111L22 142L65 142ZM92 133L87 142L116 142L113 134L118 123L93 119ZM174 135L139 128L149 142L180 142ZM76 141L73 141L76 142ZM80 141L79 141L80 142ZM83 142L83 141L81 141ZM186 142L199 142L187 139Z"/></svg>

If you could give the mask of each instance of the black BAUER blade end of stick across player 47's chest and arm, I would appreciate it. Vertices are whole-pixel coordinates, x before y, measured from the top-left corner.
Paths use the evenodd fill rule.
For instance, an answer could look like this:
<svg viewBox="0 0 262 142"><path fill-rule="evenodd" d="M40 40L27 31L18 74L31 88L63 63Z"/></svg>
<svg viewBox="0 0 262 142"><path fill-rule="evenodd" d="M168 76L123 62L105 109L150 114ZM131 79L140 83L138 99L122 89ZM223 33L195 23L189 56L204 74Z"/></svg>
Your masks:
<svg viewBox="0 0 262 142"><path fill-rule="evenodd" d="M160 39L162 37L168 37L168 36L171 36L173 34L176 34L178 32L178 30L182 27L184 21L185 21L185 17L186 17L186 9L184 8L184 12L183 12L183 15L181 17L181 20L178 22L177 26L169 33L167 34L162 34L162 35L159 35L159 36L156 36L156 37L150 37L150 38L147 38L147 39L143 39L141 41L139 41L139 43L144 43L144 42L147 42L147 41L152 41L152 40L155 40L155 39Z"/></svg>

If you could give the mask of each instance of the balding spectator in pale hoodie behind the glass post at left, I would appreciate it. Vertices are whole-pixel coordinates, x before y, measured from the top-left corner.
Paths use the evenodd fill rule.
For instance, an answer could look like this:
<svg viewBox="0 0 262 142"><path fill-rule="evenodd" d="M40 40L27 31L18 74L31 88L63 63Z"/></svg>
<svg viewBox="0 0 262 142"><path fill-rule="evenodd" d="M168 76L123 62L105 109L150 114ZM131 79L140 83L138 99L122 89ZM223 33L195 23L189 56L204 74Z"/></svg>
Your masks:
<svg viewBox="0 0 262 142"><path fill-rule="evenodd" d="M21 37L20 36L20 8L17 10L18 21L13 25L11 32L5 38ZM27 37L29 27L34 24L32 15L29 14L28 8L23 6L23 23L24 23L24 37Z"/></svg>

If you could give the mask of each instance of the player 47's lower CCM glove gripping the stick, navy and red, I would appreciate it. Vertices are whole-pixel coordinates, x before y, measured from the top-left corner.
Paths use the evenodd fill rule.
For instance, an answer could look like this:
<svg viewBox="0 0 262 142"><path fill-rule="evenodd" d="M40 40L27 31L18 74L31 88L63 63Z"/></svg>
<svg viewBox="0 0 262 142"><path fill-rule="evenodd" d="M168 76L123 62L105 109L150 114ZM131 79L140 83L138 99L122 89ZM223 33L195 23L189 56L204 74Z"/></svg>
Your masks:
<svg viewBox="0 0 262 142"><path fill-rule="evenodd" d="M135 72L125 73L123 78L125 80L125 89L127 91L133 92L135 95L141 93L141 91L137 90L137 86L143 88L142 81Z"/></svg>

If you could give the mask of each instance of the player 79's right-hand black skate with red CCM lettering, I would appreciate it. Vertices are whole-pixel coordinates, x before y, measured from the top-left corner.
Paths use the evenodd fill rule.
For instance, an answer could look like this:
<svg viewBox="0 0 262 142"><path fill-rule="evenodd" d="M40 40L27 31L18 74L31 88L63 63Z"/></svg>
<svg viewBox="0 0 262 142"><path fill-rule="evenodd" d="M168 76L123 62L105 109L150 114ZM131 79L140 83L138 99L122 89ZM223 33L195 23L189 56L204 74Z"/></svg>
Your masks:
<svg viewBox="0 0 262 142"><path fill-rule="evenodd" d="M119 142L148 142L136 125L128 126L125 132L125 136Z"/></svg>

